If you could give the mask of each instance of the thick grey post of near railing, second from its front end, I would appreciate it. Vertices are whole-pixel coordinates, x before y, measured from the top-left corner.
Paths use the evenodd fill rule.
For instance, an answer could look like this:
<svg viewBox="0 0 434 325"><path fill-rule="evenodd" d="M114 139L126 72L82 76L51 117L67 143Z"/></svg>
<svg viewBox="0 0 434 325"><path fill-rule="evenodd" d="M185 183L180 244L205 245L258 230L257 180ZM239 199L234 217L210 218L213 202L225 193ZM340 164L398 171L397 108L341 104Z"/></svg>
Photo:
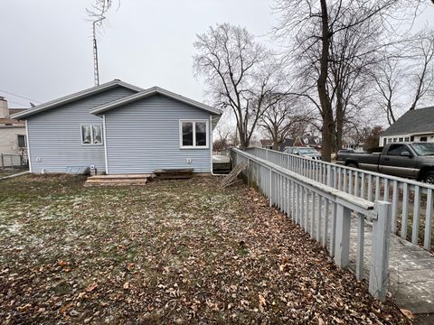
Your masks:
<svg viewBox="0 0 434 325"><path fill-rule="evenodd" d="M346 268L350 255L351 209L339 203L336 207L335 228L335 264Z"/></svg>

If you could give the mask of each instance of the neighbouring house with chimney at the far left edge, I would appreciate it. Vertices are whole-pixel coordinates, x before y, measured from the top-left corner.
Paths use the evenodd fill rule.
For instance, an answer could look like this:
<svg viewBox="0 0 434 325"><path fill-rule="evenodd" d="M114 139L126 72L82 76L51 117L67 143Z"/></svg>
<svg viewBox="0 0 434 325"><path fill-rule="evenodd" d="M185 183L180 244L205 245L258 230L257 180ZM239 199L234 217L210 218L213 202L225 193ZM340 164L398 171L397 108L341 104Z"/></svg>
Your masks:
<svg viewBox="0 0 434 325"><path fill-rule="evenodd" d="M27 141L24 122L10 117L24 110L25 108L9 108L7 100L0 97L0 153L20 154L25 152Z"/></svg>

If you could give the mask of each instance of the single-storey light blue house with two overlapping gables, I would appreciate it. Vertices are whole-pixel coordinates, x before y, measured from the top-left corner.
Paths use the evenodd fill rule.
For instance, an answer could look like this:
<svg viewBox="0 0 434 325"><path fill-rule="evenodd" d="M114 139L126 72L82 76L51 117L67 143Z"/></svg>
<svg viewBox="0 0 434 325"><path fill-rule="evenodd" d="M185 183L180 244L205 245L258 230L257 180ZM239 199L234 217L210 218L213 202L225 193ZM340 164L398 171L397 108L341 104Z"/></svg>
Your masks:
<svg viewBox="0 0 434 325"><path fill-rule="evenodd" d="M109 174L212 172L220 110L163 88L120 80L15 114L25 120L31 172L94 166Z"/></svg>

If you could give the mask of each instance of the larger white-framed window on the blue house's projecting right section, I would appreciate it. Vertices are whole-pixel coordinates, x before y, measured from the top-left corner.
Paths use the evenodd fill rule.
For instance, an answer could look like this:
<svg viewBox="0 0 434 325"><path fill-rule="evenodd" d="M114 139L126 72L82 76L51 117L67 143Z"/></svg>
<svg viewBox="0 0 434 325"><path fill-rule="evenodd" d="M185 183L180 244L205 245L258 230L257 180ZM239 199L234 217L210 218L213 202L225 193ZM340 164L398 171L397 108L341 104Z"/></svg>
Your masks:
<svg viewBox="0 0 434 325"><path fill-rule="evenodd" d="M208 148L208 120L180 120L181 148Z"/></svg>

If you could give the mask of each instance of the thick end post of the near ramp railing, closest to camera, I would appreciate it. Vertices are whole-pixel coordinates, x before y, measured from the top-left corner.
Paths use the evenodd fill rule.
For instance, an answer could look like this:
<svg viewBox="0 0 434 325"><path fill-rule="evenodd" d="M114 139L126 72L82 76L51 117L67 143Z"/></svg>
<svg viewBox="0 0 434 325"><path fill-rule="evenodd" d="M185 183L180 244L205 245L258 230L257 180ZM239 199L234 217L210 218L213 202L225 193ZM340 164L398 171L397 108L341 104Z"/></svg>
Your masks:
<svg viewBox="0 0 434 325"><path fill-rule="evenodd" d="M369 272L369 292L374 298L384 302L389 275L389 248L392 231L392 204L376 201L377 219L373 220L373 245Z"/></svg>

